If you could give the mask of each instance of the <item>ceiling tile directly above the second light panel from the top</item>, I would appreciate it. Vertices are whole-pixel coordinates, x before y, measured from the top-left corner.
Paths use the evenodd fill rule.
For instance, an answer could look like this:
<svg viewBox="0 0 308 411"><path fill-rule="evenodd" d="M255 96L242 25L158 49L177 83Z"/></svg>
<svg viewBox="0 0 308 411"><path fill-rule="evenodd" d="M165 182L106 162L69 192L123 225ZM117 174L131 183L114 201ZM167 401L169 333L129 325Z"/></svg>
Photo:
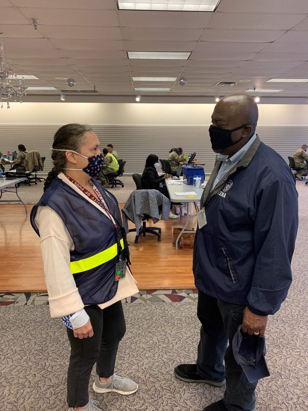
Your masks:
<svg viewBox="0 0 308 411"><path fill-rule="evenodd" d="M128 51L193 51L197 41L130 41L126 40L125 48Z"/></svg>

